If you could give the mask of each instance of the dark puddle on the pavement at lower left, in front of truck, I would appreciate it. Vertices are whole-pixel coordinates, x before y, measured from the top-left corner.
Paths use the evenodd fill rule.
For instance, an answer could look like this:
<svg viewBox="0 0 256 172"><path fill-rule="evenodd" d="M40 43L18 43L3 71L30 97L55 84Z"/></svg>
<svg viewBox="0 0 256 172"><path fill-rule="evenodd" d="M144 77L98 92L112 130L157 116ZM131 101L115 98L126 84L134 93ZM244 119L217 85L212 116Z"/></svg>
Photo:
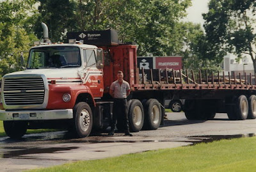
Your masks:
<svg viewBox="0 0 256 172"><path fill-rule="evenodd" d="M2 158L21 157L22 155L31 155L38 153L58 153L60 151L74 150L79 147L56 147L56 148L24 148L22 150L16 150L17 148L6 147L6 149L15 149L3 153Z"/></svg>

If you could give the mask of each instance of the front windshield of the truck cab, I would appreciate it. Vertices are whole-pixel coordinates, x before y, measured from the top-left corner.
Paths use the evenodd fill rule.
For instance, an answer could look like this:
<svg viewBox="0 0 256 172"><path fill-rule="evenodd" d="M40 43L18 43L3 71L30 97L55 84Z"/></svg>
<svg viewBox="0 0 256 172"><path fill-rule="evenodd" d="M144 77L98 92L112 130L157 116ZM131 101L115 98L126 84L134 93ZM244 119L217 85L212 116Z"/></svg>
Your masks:
<svg viewBox="0 0 256 172"><path fill-rule="evenodd" d="M40 47L31 49L27 68L65 68L81 66L78 47Z"/></svg>

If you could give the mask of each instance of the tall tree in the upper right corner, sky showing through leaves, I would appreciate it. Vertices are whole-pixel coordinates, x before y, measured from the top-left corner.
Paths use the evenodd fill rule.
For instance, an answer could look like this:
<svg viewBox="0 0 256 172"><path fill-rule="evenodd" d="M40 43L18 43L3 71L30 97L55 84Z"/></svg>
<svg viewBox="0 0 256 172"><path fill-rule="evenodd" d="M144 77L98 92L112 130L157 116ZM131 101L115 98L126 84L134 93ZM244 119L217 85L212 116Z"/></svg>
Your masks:
<svg viewBox="0 0 256 172"><path fill-rule="evenodd" d="M255 0L211 0L204 14L206 41L211 56L219 60L227 52L241 58L250 55L256 72Z"/></svg>

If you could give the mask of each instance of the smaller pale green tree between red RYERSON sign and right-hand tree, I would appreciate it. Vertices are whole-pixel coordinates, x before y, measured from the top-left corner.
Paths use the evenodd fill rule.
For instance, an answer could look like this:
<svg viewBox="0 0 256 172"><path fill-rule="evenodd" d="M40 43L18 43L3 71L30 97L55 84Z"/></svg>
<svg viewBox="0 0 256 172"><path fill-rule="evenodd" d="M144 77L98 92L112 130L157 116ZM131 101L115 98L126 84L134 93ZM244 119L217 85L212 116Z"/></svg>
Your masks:
<svg viewBox="0 0 256 172"><path fill-rule="evenodd" d="M205 42L205 34L200 24L192 22L180 22L179 25L180 40L182 40L183 49L179 54L182 55L183 68L194 70L195 74L200 70L219 71L220 61L209 59L207 49L210 49Z"/></svg>

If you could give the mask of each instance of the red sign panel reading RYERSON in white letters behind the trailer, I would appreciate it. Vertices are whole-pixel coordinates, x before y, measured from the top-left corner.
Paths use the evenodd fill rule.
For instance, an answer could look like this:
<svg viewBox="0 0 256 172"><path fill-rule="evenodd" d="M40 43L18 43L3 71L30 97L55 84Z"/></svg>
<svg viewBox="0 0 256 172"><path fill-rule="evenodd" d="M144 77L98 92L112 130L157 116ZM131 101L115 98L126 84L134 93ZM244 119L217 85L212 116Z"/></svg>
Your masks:
<svg viewBox="0 0 256 172"><path fill-rule="evenodd" d="M182 68L182 59L181 57L156 57L156 68L180 70Z"/></svg>

